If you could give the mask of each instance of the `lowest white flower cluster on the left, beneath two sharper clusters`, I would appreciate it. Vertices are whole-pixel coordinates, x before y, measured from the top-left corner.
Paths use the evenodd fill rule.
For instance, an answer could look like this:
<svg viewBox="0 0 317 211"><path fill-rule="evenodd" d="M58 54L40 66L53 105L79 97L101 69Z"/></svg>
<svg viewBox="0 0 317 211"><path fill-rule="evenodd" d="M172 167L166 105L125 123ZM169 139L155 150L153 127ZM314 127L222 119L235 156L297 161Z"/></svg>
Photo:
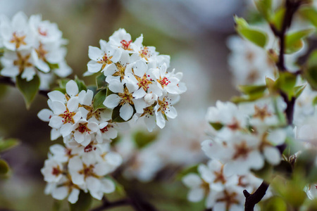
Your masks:
<svg viewBox="0 0 317 211"><path fill-rule="evenodd" d="M68 197L70 203L76 203L83 190L101 200L104 193L115 191L116 185L105 176L121 162L121 156L111 152L108 143L92 141L82 146L68 140L66 147L55 144L50 147L49 159L41 170L48 183L45 193L58 200Z"/></svg>

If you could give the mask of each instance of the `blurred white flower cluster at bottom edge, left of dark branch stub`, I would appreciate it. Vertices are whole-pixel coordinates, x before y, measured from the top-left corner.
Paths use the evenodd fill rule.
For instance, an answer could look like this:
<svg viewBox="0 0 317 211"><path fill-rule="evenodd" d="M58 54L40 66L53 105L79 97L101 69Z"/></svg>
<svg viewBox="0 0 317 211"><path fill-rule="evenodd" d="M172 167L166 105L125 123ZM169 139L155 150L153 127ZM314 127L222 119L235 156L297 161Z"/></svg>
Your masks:
<svg viewBox="0 0 317 211"><path fill-rule="evenodd" d="M207 165L198 166L198 174L189 173L183 177L182 182L189 188L188 200L199 202L206 196L205 206L208 209L243 210L243 190L255 191L261 184L261 179L252 174L228 177L224 174L223 167L218 160L210 160Z"/></svg>

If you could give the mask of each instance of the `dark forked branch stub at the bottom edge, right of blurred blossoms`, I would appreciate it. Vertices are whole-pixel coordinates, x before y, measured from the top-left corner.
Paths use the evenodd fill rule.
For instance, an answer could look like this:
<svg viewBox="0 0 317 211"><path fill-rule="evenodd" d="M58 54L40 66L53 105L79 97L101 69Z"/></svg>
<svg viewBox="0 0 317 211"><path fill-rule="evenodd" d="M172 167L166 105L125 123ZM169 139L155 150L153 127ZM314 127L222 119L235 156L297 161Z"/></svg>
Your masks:
<svg viewBox="0 0 317 211"><path fill-rule="evenodd" d="M261 186L259 186L259 188L252 194L250 194L247 190L244 190L244 211L253 211L254 206L261 201L263 196L266 195L266 190L268 190L268 184L265 181L263 181Z"/></svg>

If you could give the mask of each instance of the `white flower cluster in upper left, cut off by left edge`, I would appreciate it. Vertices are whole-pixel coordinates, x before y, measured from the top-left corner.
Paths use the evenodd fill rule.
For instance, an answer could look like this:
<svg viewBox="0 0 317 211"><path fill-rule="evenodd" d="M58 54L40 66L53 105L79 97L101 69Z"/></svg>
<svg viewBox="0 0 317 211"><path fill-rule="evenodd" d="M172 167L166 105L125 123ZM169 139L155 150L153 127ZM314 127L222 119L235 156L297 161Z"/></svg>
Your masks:
<svg viewBox="0 0 317 211"><path fill-rule="evenodd" d="M27 82L35 75L53 77L51 70L59 77L70 75L72 70L66 64L66 40L55 23L42 20L41 15L30 19L19 12L12 20L5 15L0 19L0 48L3 69L0 75L15 78L18 75ZM47 80L47 79L46 79ZM47 85L42 85L48 89Z"/></svg>

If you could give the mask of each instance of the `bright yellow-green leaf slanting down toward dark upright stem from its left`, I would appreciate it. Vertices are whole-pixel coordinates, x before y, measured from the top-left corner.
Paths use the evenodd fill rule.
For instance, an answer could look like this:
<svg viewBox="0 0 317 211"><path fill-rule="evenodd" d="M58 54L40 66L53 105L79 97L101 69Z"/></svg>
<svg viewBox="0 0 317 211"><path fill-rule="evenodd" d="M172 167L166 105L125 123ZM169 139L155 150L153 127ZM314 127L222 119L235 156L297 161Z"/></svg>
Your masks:
<svg viewBox="0 0 317 211"><path fill-rule="evenodd" d="M237 30L237 33L240 34L240 36L248 39L261 48L266 46L266 42L268 39L268 35L266 34L266 32L251 28L248 25L247 21L245 21L243 18L238 18L237 16L235 16L234 18L235 30Z"/></svg>

